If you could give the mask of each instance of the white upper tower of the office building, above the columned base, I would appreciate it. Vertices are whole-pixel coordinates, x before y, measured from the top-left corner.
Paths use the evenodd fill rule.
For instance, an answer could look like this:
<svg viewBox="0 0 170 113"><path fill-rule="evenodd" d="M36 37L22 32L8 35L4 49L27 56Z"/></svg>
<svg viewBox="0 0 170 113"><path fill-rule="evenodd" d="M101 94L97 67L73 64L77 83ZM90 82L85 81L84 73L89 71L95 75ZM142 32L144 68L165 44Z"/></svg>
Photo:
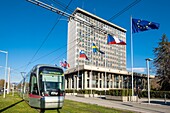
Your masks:
<svg viewBox="0 0 170 113"><path fill-rule="evenodd" d="M81 10L82 11L82 10ZM75 12L75 16L83 18L84 21L94 26L100 27L112 33L126 42L126 30L103 20L86 11ZM74 42L73 42L74 41ZM80 41L80 43L79 43ZM78 45L79 43L79 45ZM79 65L92 65L96 67L105 67L105 55L95 53L92 55L92 43L95 43L101 51L106 53L106 67L116 70L126 70L126 46L125 45L108 45L107 36L102 32L94 30L92 27L85 25L83 22L77 22L70 19L68 23L68 49L67 59L71 68ZM79 51L84 50L89 60L79 59Z"/></svg>

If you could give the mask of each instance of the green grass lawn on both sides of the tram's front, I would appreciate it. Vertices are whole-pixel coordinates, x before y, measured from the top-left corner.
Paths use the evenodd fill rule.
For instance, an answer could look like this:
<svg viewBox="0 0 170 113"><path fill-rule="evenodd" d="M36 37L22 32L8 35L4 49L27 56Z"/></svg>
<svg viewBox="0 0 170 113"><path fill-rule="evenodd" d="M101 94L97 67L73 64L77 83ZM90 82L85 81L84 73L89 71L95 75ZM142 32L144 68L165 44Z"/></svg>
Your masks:
<svg viewBox="0 0 170 113"><path fill-rule="evenodd" d="M34 108L31 108L17 94L15 96L6 95L4 99L0 96L0 113L38 113ZM45 113L57 113L57 110L47 110ZM97 105L85 104L65 100L64 107L58 113L133 113L130 111L121 111L112 108L101 107Z"/></svg>

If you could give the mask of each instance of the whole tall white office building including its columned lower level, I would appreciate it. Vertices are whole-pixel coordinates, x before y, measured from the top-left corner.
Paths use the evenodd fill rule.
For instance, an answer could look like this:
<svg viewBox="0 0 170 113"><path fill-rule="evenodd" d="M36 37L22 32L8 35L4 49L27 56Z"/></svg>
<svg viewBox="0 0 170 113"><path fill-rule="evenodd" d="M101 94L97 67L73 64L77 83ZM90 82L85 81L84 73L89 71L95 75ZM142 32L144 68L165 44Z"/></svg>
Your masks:
<svg viewBox="0 0 170 113"><path fill-rule="evenodd" d="M131 88L131 73L126 70L126 45L107 44L108 34L126 42L126 29L80 8L73 15L75 18L70 17L68 22L67 61L70 68L65 72L65 88ZM94 53L93 43L105 54ZM88 60L79 57L80 50ZM142 83L145 78L142 75L134 77L134 84Z"/></svg>

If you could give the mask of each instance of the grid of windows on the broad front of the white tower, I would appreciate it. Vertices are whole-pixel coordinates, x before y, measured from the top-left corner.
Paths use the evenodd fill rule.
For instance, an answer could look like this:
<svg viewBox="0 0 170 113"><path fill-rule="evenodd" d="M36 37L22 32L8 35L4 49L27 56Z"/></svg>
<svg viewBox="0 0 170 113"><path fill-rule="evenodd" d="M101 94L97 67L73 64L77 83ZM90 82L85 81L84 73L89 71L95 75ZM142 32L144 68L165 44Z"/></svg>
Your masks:
<svg viewBox="0 0 170 113"><path fill-rule="evenodd" d="M123 31L120 31L116 28L113 28L113 26L105 25L101 21L97 21L93 18L90 18L86 15L83 15L81 13L76 13L81 18L85 19L86 21L92 23L94 26L102 26L103 29L107 28L108 30L112 31L113 34L116 34L120 39L125 40L126 33ZM76 24L75 24L76 23ZM105 56L100 53L93 53L92 52L92 43L95 43L98 48L105 52L107 54L107 66L111 68L116 69L124 69L126 68L126 56L125 51L126 47L124 46L117 46L117 45L107 45L107 37L103 33L96 32L93 28L90 26L87 26L83 23L74 21L74 26L76 26L76 38L77 38L77 44L78 47L76 47L77 52L75 53L76 59L75 65L78 64L78 57L79 57L79 51L84 50L87 57L89 57L89 61L86 61L84 59L79 59L79 64L86 64L90 65L92 61L92 56L94 60L94 65L103 67L105 65ZM101 27L101 28L102 28ZM75 29L75 28L74 28ZM79 43L80 42L80 43ZM93 55L92 55L93 54ZM119 67L120 66L120 67Z"/></svg>

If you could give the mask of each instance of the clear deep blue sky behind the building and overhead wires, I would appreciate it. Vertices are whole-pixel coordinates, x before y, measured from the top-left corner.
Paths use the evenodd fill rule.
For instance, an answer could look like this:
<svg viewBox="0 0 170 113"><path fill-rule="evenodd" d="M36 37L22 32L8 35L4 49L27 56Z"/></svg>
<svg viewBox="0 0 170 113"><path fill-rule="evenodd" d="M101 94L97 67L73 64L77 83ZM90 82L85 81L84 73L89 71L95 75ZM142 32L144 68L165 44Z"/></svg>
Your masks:
<svg viewBox="0 0 170 113"><path fill-rule="evenodd" d="M55 0L42 1L64 10L63 7L52 2ZM65 6L69 3L69 0L57 1L65 4ZM69 6L70 10L66 12L71 14L76 7L80 7L108 20L134 1L72 0ZM134 68L138 68L138 72L145 73L143 71L146 68L145 59L154 58L153 49L158 46L158 42L164 33L167 37L170 37L169 5L169 0L141 0L111 21L127 30L128 69L131 68L130 16L160 23L158 30L133 34ZM31 4L26 0L2 0L0 3L0 15L0 50L9 52L8 66L12 69L12 82L20 81L20 72L28 72L36 64L58 64L60 60L66 58L67 18L62 17L60 19L35 55L60 15ZM34 55L35 57L33 58ZM31 61L32 58L33 60ZM30 61L30 65L27 66ZM4 79L4 66L5 54L0 53L0 79Z"/></svg>

